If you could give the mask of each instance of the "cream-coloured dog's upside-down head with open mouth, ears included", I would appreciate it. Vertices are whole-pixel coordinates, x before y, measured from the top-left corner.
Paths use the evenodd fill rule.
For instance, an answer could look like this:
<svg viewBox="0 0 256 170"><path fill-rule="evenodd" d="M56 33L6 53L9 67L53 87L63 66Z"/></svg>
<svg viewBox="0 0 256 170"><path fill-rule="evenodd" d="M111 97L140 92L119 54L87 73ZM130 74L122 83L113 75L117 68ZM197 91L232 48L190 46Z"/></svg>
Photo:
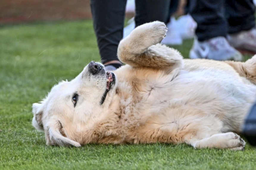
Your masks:
<svg viewBox="0 0 256 170"><path fill-rule="evenodd" d="M92 61L75 79L54 85L43 101L33 104L32 124L45 133L47 144L80 146L80 134L106 112L116 86L115 74Z"/></svg>

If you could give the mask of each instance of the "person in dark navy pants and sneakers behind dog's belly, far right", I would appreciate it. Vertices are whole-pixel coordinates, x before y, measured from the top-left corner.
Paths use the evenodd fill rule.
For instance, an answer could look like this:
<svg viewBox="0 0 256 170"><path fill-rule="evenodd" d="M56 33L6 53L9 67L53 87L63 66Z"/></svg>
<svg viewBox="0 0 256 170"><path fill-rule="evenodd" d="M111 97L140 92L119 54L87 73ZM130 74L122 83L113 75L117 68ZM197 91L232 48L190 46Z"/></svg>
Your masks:
<svg viewBox="0 0 256 170"><path fill-rule="evenodd" d="M256 53L255 6L252 0L189 0L197 23L190 58L241 61Z"/></svg>

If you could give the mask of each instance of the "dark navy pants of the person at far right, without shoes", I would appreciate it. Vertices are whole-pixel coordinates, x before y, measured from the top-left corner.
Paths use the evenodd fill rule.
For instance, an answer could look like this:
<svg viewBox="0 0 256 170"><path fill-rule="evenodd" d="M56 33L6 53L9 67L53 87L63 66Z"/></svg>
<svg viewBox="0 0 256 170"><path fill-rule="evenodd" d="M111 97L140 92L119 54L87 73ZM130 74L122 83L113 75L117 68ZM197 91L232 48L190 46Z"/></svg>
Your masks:
<svg viewBox="0 0 256 170"><path fill-rule="evenodd" d="M255 27L252 0L189 0L188 12L197 22L199 41Z"/></svg>

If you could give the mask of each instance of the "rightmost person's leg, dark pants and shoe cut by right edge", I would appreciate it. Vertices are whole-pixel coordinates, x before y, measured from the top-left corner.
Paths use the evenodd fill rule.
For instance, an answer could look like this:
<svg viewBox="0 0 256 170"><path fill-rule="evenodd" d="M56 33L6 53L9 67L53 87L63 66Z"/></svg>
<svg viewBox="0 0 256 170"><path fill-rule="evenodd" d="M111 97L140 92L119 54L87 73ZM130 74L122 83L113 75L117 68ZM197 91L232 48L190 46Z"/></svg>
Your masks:
<svg viewBox="0 0 256 170"><path fill-rule="evenodd" d="M226 0L229 43L242 53L256 53L255 6L252 0Z"/></svg>

